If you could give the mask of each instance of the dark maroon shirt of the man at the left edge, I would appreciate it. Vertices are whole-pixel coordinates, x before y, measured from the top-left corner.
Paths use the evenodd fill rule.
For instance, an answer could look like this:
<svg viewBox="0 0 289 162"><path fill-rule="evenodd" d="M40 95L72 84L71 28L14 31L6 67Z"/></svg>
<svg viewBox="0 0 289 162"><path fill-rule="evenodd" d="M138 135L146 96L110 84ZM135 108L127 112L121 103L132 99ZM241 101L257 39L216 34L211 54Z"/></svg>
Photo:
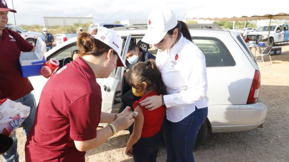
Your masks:
<svg viewBox="0 0 289 162"><path fill-rule="evenodd" d="M30 52L33 46L18 33L2 30L0 36L0 91L1 98L17 100L33 90L28 78L23 78L20 69L20 52Z"/></svg>

